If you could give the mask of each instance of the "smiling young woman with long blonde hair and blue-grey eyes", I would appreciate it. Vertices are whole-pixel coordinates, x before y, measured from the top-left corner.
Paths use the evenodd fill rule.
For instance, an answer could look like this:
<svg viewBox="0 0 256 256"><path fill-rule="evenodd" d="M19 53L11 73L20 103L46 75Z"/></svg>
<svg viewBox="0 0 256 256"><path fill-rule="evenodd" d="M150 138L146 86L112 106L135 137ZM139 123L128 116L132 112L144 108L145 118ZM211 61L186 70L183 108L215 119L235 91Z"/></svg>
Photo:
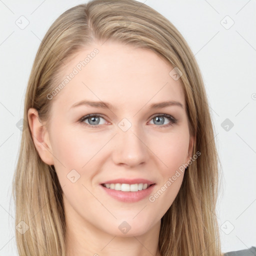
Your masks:
<svg viewBox="0 0 256 256"><path fill-rule="evenodd" d="M20 255L221 255L203 81L152 8L92 0L61 14L35 56L25 125Z"/></svg>

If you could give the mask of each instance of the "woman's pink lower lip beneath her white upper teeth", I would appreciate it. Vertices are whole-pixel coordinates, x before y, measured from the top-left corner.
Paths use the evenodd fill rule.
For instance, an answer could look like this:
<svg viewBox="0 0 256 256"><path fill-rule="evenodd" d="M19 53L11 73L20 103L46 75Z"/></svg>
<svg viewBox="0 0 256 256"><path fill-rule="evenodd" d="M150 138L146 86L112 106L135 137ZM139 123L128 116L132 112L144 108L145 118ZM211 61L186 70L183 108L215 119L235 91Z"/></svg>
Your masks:
<svg viewBox="0 0 256 256"><path fill-rule="evenodd" d="M148 196L152 190L155 184L149 186L146 189L138 190L136 192L130 192L130 191L120 191L120 190L114 190L107 187L104 187L103 185L100 185L110 196L113 198L122 201L122 202L137 202L146 196Z"/></svg>

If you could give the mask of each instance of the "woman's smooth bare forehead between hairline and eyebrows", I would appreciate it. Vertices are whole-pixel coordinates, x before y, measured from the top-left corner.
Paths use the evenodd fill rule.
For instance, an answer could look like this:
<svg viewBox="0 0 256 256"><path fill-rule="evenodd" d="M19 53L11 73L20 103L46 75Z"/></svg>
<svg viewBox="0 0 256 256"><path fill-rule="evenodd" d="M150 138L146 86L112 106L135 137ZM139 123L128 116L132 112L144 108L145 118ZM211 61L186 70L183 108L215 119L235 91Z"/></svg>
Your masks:
<svg viewBox="0 0 256 256"><path fill-rule="evenodd" d="M60 72L59 80L64 86L56 103L62 102L63 107L69 108L87 99L137 108L178 100L184 105L180 79L170 76L172 69L166 59L152 50L111 41L95 43L80 49Z"/></svg>

